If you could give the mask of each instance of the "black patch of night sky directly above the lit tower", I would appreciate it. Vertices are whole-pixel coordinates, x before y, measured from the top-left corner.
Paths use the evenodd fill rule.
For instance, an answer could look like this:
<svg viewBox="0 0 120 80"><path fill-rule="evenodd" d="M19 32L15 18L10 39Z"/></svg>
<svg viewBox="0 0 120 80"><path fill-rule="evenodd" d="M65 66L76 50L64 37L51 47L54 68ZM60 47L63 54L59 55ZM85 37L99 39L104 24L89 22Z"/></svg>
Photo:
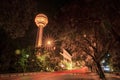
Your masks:
<svg viewBox="0 0 120 80"><path fill-rule="evenodd" d="M36 0L38 11L53 16L62 6L71 0Z"/></svg>

